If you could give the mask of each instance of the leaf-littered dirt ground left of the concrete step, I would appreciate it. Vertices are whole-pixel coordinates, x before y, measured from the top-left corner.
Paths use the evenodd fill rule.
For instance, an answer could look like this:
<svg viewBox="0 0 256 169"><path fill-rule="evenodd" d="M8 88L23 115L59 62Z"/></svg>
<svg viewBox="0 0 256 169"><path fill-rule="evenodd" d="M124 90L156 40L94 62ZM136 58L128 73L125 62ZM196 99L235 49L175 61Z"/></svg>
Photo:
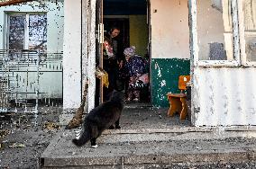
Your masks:
<svg viewBox="0 0 256 169"><path fill-rule="evenodd" d="M41 107L37 116L0 115L0 168L38 168L39 157L60 129L59 108Z"/></svg>

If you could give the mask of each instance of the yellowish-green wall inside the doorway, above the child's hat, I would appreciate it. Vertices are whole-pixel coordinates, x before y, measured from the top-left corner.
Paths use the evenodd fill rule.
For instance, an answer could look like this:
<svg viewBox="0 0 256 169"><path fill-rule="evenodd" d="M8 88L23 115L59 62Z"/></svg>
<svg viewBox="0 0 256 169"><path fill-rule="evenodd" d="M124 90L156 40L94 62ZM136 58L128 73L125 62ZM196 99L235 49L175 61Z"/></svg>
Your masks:
<svg viewBox="0 0 256 169"><path fill-rule="evenodd" d="M147 53L148 25L147 15L130 15L130 45L136 47L136 53L144 56Z"/></svg>

